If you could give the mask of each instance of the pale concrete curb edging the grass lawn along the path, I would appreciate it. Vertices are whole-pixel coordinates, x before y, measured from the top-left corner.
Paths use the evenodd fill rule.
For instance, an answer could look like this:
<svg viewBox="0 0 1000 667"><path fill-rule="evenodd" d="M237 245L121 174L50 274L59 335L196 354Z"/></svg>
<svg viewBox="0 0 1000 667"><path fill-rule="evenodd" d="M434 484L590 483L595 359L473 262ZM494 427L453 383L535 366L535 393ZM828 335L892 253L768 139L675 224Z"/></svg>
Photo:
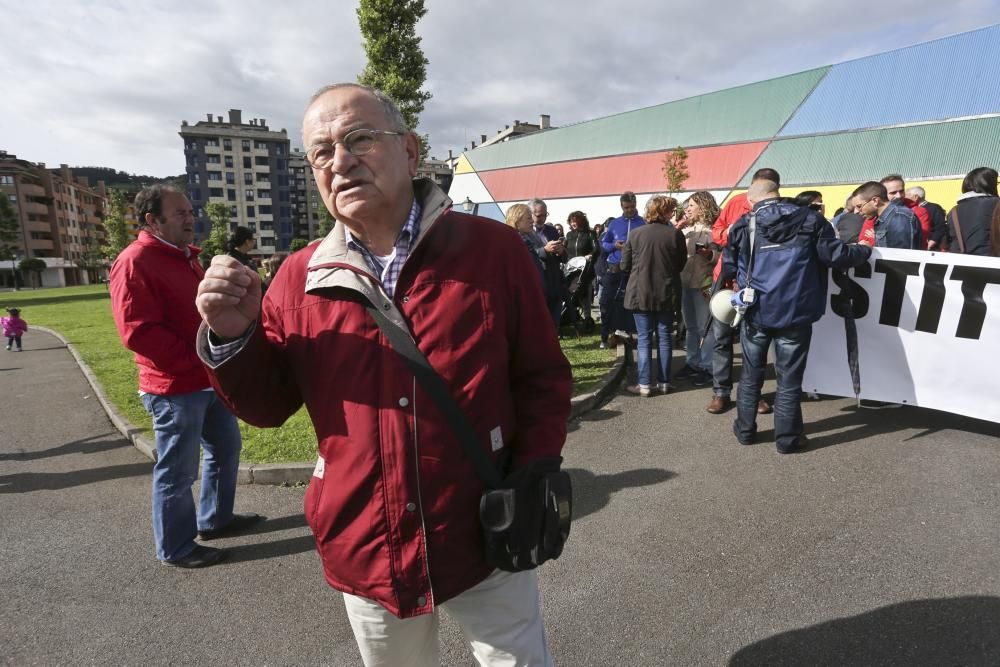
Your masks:
<svg viewBox="0 0 1000 667"><path fill-rule="evenodd" d="M115 428L118 429L126 440L132 443L133 447L142 452L150 461L155 462L156 445L145 435L146 429L138 428L118 412L118 409L108 400L107 394L104 393L104 388L97 381L97 376L90 370L90 366L83 360L80 353L76 351L73 344L63 338L62 334L58 331L54 331L48 327L32 325L32 328L54 336L66 346L69 353L73 355L73 359L76 360L77 366L83 372L83 376L87 378L87 382L90 384L91 389L94 390L94 395L97 396L97 400L100 401L101 407L104 408L104 412L107 413L111 423L114 424ZM597 407L617 390L618 383L621 382L622 377L625 375L625 367L628 365L628 355L623 346L619 346L616 357L615 365L601 379L593 391L576 396L570 401L570 421L578 419L584 413ZM312 477L314 468L315 464L313 463L241 463L239 472L236 475L236 483L271 485L306 483Z"/></svg>

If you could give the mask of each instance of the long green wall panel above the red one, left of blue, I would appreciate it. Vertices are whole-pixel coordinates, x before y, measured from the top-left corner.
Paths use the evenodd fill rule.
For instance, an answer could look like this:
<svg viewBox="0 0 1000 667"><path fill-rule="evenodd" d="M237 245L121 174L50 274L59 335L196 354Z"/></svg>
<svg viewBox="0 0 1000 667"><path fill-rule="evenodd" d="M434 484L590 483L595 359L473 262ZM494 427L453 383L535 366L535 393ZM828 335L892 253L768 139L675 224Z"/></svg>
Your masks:
<svg viewBox="0 0 1000 667"><path fill-rule="evenodd" d="M465 155L477 171L770 139L829 67L546 130Z"/></svg>

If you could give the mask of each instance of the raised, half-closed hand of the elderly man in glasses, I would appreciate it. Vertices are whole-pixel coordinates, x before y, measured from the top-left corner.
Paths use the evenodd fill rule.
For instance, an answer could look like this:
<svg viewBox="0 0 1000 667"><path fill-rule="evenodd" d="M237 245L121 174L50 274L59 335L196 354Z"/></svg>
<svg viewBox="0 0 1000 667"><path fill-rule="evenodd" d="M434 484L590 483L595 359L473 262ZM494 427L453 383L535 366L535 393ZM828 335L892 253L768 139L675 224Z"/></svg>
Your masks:
<svg viewBox="0 0 1000 667"><path fill-rule="evenodd" d="M260 276L228 255L216 255L198 285L195 304L216 336L239 338L260 315Z"/></svg>

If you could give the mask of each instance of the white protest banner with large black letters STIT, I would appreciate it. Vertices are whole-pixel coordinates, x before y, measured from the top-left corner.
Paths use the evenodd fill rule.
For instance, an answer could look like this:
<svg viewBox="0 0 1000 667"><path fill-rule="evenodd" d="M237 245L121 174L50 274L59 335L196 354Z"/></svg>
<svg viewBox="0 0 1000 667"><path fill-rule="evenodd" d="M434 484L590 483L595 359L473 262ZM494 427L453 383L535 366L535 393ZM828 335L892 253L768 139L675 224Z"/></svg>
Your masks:
<svg viewBox="0 0 1000 667"><path fill-rule="evenodd" d="M861 398L1000 422L1000 258L876 248L832 276L803 390L854 396L852 313Z"/></svg>

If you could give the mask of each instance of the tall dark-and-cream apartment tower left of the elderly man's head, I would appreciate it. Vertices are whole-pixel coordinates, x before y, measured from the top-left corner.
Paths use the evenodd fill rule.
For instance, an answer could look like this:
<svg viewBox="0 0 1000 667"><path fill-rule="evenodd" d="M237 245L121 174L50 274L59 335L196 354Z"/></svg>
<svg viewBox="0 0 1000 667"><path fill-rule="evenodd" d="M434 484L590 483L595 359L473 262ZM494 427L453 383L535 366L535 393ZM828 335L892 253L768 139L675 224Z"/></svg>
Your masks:
<svg viewBox="0 0 1000 667"><path fill-rule="evenodd" d="M223 202L230 210L230 231L237 225L256 232L253 254L286 251L295 236L289 176L288 132L274 132L263 118L243 122L240 109L194 125L181 121L187 192L195 211L195 243L208 238L205 208Z"/></svg>

